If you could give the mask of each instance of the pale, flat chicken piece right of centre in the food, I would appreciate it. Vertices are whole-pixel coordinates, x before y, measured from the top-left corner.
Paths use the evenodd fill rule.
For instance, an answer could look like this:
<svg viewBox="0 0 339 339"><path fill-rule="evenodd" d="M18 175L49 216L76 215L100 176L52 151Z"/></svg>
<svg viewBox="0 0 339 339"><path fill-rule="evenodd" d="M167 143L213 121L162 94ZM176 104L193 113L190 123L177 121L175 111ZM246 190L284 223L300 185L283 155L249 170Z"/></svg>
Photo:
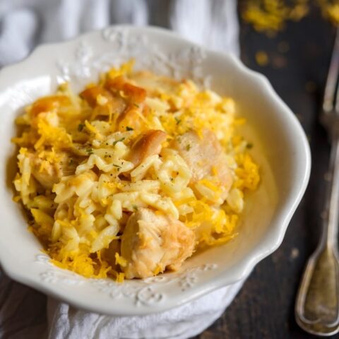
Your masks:
<svg viewBox="0 0 339 339"><path fill-rule="evenodd" d="M216 175L225 192L228 192L233 179L222 146L209 129L204 129L202 134L201 137L194 131L184 133L174 140L174 148L191 168L191 184Z"/></svg>

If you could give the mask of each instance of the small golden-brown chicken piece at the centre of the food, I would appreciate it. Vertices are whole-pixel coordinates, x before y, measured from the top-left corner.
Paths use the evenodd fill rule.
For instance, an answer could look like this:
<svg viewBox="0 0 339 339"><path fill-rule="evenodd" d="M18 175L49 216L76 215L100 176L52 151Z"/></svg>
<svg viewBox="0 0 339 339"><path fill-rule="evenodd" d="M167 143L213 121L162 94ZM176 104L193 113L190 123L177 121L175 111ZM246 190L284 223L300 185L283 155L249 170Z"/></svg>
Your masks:
<svg viewBox="0 0 339 339"><path fill-rule="evenodd" d="M133 142L129 161L138 166L146 157L159 154L166 136L165 132L154 129L141 133Z"/></svg>

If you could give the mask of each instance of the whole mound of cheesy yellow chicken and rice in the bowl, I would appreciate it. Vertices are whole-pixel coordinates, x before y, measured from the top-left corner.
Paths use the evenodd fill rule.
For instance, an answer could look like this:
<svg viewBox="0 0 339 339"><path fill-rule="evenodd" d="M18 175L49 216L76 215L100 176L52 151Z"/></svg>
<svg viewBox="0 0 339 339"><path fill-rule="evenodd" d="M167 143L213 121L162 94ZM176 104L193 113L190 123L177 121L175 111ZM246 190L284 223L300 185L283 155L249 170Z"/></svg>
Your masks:
<svg viewBox="0 0 339 339"><path fill-rule="evenodd" d="M133 62L18 117L14 185L52 262L121 282L177 270L237 234L258 166L234 101Z"/></svg>

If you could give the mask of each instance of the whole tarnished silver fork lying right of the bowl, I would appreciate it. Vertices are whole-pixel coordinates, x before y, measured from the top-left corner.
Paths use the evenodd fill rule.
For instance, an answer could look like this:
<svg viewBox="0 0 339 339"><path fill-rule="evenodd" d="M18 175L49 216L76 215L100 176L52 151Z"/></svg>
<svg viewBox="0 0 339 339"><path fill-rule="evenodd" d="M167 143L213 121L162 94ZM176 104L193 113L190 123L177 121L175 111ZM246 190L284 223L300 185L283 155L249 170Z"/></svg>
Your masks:
<svg viewBox="0 0 339 339"><path fill-rule="evenodd" d="M339 332L339 28L326 81L321 123L331 140L326 205L319 245L309 258L299 286L295 318L304 331L315 335Z"/></svg>

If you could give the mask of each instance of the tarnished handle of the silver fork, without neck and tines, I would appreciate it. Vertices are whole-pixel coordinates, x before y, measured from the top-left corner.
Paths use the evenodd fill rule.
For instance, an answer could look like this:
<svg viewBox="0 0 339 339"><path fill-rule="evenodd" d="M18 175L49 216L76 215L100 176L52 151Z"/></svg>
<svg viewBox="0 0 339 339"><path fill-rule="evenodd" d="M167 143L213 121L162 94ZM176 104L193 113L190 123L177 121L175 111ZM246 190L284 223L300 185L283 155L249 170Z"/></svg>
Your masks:
<svg viewBox="0 0 339 339"><path fill-rule="evenodd" d="M299 326L317 335L339 331L338 204L339 138L335 131L321 242L307 263L295 310Z"/></svg>

